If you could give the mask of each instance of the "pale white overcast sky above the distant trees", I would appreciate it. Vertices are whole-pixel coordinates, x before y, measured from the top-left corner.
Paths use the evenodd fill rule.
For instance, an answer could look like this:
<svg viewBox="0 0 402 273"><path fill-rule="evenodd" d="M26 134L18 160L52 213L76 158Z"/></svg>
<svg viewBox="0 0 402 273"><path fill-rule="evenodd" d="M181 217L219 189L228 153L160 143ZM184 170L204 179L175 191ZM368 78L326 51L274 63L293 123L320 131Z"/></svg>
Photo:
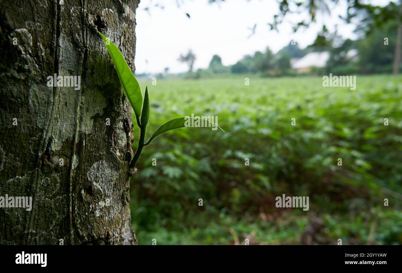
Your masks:
<svg viewBox="0 0 402 273"><path fill-rule="evenodd" d="M293 33L290 23L283 23L277 31L270 31L267 23L272 23L278 13L276 0L230 0L218 4L208 4L207 0L141 0L136 10L135 29L137 45L135 52L135 72L158 73L165 67L171 73L185 72L186 64L178 62L180 54L193 50L197 68L207 68L213 55L222 58L224 65L235 64L244 55L264 52L267 46L278 52L289 41L295 39L301 48L310 45L326 23L330 32L338 25L338 34L344 38L356 39L354 25L347 25L338 15L345 16L346 1L330 3L331 16L318 12L317 23L308 29ZM373 0L372 4L385 4L387 0ZM164 9L154 7L155 4ZM150 14L144 9L150 8ZM186 12L190 14L189 19ZM306 14L287 15L286 20L299 22ZM254 24L255 34L248 38ZM148 61L148 62L147 62Z"/></svg>

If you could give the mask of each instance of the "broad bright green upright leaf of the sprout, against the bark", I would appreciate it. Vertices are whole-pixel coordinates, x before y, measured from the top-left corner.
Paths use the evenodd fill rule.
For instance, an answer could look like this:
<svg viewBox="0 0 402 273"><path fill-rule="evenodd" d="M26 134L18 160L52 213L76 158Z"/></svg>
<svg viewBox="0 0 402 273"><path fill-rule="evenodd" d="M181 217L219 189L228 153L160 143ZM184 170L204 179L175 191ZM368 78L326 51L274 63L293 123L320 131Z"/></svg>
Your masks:
<svg viewBox="0 0 402 273"><path fill-rule="evenodd" d="M117 48L117 46L110 39L103 36L102 33L98 33L100 36L102 36L107 51L109 51L109 54L115 63L117 74L119 75L121 85L123 86L124 94L130 101L135 115L140 116L142 107L142 93L139 83L135 79L133 72L131 72L119 48Z"/></svg>

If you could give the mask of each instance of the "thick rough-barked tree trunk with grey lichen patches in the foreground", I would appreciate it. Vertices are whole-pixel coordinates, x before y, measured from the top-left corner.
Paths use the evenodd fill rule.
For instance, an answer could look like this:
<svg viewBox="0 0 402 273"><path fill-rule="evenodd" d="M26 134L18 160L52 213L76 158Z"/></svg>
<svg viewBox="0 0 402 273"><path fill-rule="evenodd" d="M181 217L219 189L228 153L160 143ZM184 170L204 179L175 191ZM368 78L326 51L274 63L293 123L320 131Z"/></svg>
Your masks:
<svg viewBox="0 0 402 273"><path fill-rule="evenodd" d="M131 106L96 30L134 70L138 2L0 2L0 196L33 204L0 208L0 244L135 244Z"/></svg>

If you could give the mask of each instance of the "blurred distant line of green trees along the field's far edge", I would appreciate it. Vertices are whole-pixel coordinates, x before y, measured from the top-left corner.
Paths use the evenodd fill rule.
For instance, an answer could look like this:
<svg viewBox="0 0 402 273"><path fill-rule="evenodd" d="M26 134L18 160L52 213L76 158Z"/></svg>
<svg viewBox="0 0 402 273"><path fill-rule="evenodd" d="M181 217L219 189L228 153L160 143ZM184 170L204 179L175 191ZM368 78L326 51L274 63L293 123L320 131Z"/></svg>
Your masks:
<svg viewBox="0 0 402 273"><path fill-rule="evenodd" d="M307 48L301 49L297 41L290 41L287 46L274 54L268 47L265 52L257 51L246 55L232 66L224 66L221 57L214 55L208 68L193 71L195 55L189 51L187 56L180 56L180 61L190 62L189 71L176 77L190 79L215 77L219 74L256 73L261 76L292 76L297 74L379 74L391 73L395 55L396 28L394 23L388 23L380 29L375 29L362 39L342 39L338 33L318 36L316 41ZM349 56L351 50L357 56ZM310 52L328 52L329 58L325 67L311 66L307 71L292 69L291 63L306 56ZM158 78L168 75L168 68ZM139 74L138 77L149 74ZM171 75L172 76L172 75Z"/></svg>

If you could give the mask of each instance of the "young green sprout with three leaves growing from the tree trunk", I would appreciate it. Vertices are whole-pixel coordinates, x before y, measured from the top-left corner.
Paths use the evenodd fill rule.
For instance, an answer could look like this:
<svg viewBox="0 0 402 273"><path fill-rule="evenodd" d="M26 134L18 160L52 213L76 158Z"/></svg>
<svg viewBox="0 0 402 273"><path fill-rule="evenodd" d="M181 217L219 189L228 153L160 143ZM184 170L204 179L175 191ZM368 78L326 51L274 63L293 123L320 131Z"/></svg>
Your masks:
<svg viewBox="0 0 402 273"><path fill-rule="evenodd" d="M133 168L135 167L135 164L137 163L144 146L150 144L151 141L156 138L156 136L164 132L185 127L186 117L174 118L172 120L169 120L168 122L165 122L158 128L158 130L154 132L154 134L152 134L150 139L145 143L145 133L150 118L150 101L148 96L148 87L145 88L143 103L142 92L141 88L139 87L139 83L137 79L135 79L133 72L131 72L127 62L123 57L123 54L120 52L119 48L117 48L117 46L112 41L110 41L110 39L106 38L102 33L98 33L100 34L100 36L102 36L105 46L115 64L117 75L119 75L124 94L133 107L135 119L137 120L137 125L140 130L137 151L135 152L135 155L129 164L129 168ZM194 120L194 118L190 119ZM204 120L204 122L210 122L211 125L216 125L220 130L222 130L222 128L220 128L217 124L211 122L210 120L200 120ZM224 130L222 131L224 132Z"/></svg>

